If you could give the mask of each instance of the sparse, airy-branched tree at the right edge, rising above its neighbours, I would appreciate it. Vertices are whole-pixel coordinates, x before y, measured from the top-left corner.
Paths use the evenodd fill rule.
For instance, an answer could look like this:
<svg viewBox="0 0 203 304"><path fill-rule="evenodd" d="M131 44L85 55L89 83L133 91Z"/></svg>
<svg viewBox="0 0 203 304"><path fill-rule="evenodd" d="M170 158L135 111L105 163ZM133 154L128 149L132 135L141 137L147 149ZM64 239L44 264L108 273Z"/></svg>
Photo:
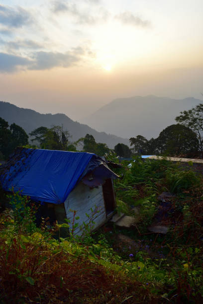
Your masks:
<svg viewBox="0 0 203 304"><path fill-rule="evenodd" d="M188 111L180 112L181 115L176 117L176 121L181 125L192 129L199 140L199 151L203 152L203 103Z"/></svg>

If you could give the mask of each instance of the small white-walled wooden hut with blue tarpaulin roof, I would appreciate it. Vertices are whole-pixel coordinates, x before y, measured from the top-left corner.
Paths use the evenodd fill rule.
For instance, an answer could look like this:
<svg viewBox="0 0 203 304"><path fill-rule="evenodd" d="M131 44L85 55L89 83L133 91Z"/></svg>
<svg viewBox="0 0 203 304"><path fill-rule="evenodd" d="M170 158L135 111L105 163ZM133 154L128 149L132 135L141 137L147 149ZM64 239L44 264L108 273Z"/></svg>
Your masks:
<svg viewBox="0 0 203 304"><path fill-rule="evenodd" d="M2 188L20 190L40 205L38 221L48 215L50 221L63 224L66 218L72 223L74 217L74 224L78 224L74 234L78 235L87 224L95 230L112 217L115 178L118 175L107 161L86 152L18 148L0 166Z"/></svg>

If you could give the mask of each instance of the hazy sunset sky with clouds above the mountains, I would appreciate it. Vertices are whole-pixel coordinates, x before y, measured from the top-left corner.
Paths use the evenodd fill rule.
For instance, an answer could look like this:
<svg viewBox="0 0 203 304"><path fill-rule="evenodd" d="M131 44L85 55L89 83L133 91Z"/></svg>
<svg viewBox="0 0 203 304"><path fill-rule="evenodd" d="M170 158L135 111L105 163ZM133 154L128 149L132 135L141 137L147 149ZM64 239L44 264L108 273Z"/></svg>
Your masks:
<svg viewBox="0 0 203 304"><path fill-rule="evenodd" d="M201 92L203 0L0 1L0 100L79 120L117 97Z"/></svg>

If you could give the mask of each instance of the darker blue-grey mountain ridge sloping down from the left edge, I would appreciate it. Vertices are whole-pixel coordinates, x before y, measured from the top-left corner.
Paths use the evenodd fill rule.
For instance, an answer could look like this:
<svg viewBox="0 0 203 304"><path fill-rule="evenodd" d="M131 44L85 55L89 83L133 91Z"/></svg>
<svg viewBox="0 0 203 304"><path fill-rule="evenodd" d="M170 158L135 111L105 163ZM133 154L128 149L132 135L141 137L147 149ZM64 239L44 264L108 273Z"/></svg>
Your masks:
<svg viewBox="0 0 203 304"><path fill-rule="evenodd" d="M19 108L9 102L0 101L0 117L9 125L12 123L19 125L27 134L41 126L50 128L52 125L61 126L63 124L64 130L70 132L72 141L85 137L88 133L94 136L97 143L104 143L111 149L118 143L129 145L128 139L98 132L88 125L71 120L65 114L40 114L34 110Z"/></svg>

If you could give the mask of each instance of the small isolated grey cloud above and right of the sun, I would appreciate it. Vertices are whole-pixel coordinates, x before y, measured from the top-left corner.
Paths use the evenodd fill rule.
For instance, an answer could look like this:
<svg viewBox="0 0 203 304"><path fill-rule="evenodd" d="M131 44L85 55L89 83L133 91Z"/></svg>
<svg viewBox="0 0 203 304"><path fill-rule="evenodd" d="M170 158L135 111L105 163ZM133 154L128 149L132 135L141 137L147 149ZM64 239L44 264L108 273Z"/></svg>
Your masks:
<svg viewBox="0 0 203 304"><path fill-rule="evenodd" d="M125 11L115 16L120 22L126 25L140 26L140 27L150 27L151 22L149 20L143 20L139 16L133 15L129 11Z"/></svg>

